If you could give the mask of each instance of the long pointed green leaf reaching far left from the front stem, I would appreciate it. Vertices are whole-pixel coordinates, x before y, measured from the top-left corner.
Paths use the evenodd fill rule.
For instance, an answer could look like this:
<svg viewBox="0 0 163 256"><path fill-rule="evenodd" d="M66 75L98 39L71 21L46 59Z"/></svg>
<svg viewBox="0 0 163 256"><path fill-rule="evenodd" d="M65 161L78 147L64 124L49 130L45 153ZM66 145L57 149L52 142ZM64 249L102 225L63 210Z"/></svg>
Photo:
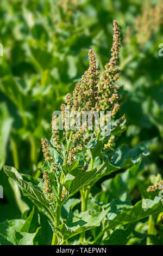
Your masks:
<svg viewBox="0 0 163 256"><path fill-rule="evenodd" d="M35 186L31 182L22 180L22 176L17 172L17 170L11 166L4 166L4 172L18 183L18 186L23 189L31 198L38 201L42 206L46 208L51 216L53 216L52 206L48 203L43 192L38 186Z"/></svg>

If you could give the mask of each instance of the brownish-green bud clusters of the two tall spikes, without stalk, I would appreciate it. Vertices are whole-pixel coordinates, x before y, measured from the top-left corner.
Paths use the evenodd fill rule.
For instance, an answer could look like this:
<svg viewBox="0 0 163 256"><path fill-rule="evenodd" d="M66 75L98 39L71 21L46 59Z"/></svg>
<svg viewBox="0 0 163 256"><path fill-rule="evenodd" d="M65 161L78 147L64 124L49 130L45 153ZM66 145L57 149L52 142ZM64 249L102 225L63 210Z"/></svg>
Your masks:
<svg viewBox="0 0 163 256"><path fill-rule="evenodd" d="M108 64L105 65L105 70L99 78L99 71L97 69L97 63L95 58L95 53L90 49L89 50L89 68L86 70L80 82L76 84L72 95L67 93L65 104L61 105L62 113L62 122L64 124L64 133L66 136L66 141L68 144L68 150L65 153L65 163L72 163L74 157L77 153L86 149L87 144L92 138L92 135L89 134L87 129L87 122L85 122L80 129L71 130L65 122L65 113L66 110L71 112L78 111L78 115L82 116L83 111L101 111L109 110L111 111L111 117L115 117L120 105L118 101L120 96L117 91L119 89L118 85L115 85L116 80L120 76L120 70L117 68L118 64L118 54L121 47L121 37L120 37L120 28L116 21L113 22L114 26L114 35L113 35L113 44L111 48L111 58ZM108 118L105 115L105 120ZM122 120L118 124L122 123ZM98 133L100 130L98 131ZM109 150L112 147L115 136L110 136L108 142L104 145L104 150ZM59 129L57 126L57 117L52 118L52 140L53 145L61 153L63 151L60 139L59 139ZM46 140L42 139L42 151L45 157L45 161L51 163L51 171L56 171L54 168L54 159L49 154L48 143ZM84 166L84 171L87 169L87 163ZM46 177L46 179L45 179ZM45 182L47 183L47 175L43 176ZM48 193L48 189L45 189L45 192Z"/></svg>

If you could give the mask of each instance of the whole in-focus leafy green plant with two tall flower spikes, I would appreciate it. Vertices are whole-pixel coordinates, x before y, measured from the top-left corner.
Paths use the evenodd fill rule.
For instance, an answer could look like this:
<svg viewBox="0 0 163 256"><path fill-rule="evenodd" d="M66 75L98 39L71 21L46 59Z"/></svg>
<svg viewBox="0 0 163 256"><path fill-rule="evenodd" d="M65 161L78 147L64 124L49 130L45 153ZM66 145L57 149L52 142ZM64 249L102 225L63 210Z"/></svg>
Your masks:
<svg viewBox="0 0 163 256"><path fill-rule="evenodd" d="M42 139L45 162L38 171L43 177L21 175L15 168L4 166L5 173L17 182L23 195L32 200L41 216L48 218L53 230L52 245L67 245L72 237L77 237L77 244L126 244L141 219L163 211L162 200L158 197L142 199L133 206L127 194L137 185L137 181L128 181L140 171L142 156L149 153L149 142L130 149L121 140L126 119L124 116L115 118L120 108L119 87L115 84L120 74L117 68L120 46L120 28L114 21L111 58L104 72L99 78L95 55L89 50L89 68L73 94L67 94L66 104L61 105L64 130L58 129L57 117L54 116L51 140ZM67 127L67 109L77 111L79 120L84 111L110 110L110 134L104 136L102 129L96 130L96 122L93 130L89 129L87 122L78 130ZM105 114L105 125L107 119ZM70 124L72 122L76 121L70 117ZM92 196L91 189L99 180L120 171L124 173L118 174L115 180L103 179L102 191ZM108 195L110 188L113 190ZM73 211L79 203L81 211ZM35 210L27 221L20 219L17 223L9 221L0 225L1 243L23 244L23 239L29 244L42 243L40 230L43 227ZM91 230L89 235L85 233L88 230ZM22 239L13 241L11 232L20 233Z"/></svg>

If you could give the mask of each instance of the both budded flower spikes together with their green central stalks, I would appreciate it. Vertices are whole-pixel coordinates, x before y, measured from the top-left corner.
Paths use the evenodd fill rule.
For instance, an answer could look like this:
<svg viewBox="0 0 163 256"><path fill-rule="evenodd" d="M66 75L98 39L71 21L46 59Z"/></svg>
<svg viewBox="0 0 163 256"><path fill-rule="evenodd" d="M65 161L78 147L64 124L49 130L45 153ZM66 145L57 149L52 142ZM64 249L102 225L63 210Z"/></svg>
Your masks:
<svg viewBox="0 0 163 256"><path fill-rule="evenodd" d="M99 140L102 138L101 128L98 130L89 130L87 120L82 123L78 129L71 129L70 123L71 118L66 121L66 113L75 113L75 117L78 116L79 120L82 118L82 115L85 111L96 111L97 114L100 111L110 111L110 116L104 114L104 122L107 121L107 118L114 118L117 114L120 105L118 101L120 96L118 95L119 86L115 85L115 82L120 76L120 70L117 68L118 64L118 54L121 47L120 39L120 28L116 21L113 22L114 25L114 37L113 44L111 48L111 58L108 64L105 65L105 70L101 76L96 64L95 53L90 49L89 50L89 68L86 70L80 82L76 84L72 95L67 93L65 104L61 105L61 117L63 124L63 132L60 132L57 126L57 117L52 118L52 138L49 142L48 140L42 139L42 151L45 158L45 169L43 169L43 180L44 188L43 192L50 201L56 200L56 216L55 216L55 227L59 225L59 217L61 204L67 197L67 189L64 187L64 177L66 165L75 163L77 159L82 160L83 156L79 155L76 158L77 154L86 151L84 154L83 163L81 164L79 171L87 172L93 169L93 155L92 151L88 146L92 139ZM73 122L74 121L73 116ZM95 120L94 120L95 121ZM120 118L115 124L115 126L120 126L124 121L124 116ZM95 123L94 123L95 126ZM60 135L62 140L60 140ZM115 135L111 134L106 137L108 142L101 140L103 144L102 150L108 152L112 150L114 145ZM62 141L62 142L61 142ZM103 141L103 142L102 142ZM49 148L53 148L49 150ZM54 153L55 152L55 153ZM104 160L102 160L102 163ZM51 176L49 173L53 174L55 181L51 183ZM56 187L57 189L53 189ZM90 191L89 186L83 187L80 190L82 197L82 211L86 210L87 200ZM55 190L55 191L54 191ZM53 237L53 243L56 243L56 237Z"/></svg>

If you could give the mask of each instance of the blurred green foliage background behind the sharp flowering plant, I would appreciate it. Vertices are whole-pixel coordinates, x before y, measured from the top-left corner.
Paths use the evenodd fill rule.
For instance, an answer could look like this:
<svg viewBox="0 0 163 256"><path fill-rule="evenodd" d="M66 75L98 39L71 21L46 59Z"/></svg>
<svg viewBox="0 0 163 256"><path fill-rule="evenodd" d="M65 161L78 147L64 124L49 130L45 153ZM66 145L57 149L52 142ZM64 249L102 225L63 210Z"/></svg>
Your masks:
<svg viewBox="0 0 163 256"><path fill-rule="evenodd" d="M133 147L149 140L143 178L163 175L161 0L1 0L0 169L7 164L37 175L41 138L49 138L53 111L87 69L88 49L101 71L109 61L113 20L122 32L119 115L128 128L121 142ZM3 171L0 185L0 222L20 218L27 206Z"/></svg>

